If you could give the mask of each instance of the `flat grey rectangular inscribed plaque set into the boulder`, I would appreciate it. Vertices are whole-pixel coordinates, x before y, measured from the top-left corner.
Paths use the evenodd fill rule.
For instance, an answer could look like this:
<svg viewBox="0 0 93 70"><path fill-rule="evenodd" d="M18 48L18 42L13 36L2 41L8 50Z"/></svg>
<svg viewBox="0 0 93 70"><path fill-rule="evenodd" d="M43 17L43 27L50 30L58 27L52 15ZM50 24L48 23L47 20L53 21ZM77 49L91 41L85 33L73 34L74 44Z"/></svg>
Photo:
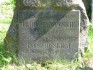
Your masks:
<svg viewBox="0 0 93 70"><path fill-rule="evenodd" d="M78 57L79 11L24 10L18 17L19 58L29 62Z"/></svg>

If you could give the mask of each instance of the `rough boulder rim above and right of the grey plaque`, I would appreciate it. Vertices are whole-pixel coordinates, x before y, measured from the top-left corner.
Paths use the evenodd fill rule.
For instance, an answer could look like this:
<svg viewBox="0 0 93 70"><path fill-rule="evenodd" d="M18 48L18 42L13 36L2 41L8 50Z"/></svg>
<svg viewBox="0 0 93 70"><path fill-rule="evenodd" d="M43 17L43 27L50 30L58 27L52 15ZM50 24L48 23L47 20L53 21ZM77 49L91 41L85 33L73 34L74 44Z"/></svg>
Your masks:
<svg viewBox="0 0 93 70"><path fill-rule="evenodd" d="M84 2L84 3L83 3ZM87 9L87 1L85 0L20 0L17 1L17 9L61 9L65 11L70 10L80 10L81 12L81 48L87 47L87 24L89 23L89 19L86 13ZM33 5L33 4L34 5ZM86 8L85 8L85 6ZM33 5L33 6L32 6Z"/></svg>

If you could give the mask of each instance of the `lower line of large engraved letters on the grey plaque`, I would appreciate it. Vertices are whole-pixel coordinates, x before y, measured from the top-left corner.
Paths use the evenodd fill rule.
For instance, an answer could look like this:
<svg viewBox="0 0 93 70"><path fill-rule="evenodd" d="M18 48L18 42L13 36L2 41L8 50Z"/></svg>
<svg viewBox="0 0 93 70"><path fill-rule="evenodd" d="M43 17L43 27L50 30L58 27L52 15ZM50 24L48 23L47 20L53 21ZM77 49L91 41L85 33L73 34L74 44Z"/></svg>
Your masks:
<svg viewBox="0 0 93 70"><path fill-rule="evenodd" d="M29 47L31 47L31 49L33 48L33 50L38 50L38 48L40 48L41 46L42 46L42 48L50 48L50 47L52 47L52 48L56 48L56 49L59 49L59 48L63 48L63 49L70 49L70 47L71 47L71 43L41 43L41 44L36 44L36 43L34 43L34 44L32 44L32 45L30 45L30 44L28 44L27 45L28 46L28 48Z"/></svg>

